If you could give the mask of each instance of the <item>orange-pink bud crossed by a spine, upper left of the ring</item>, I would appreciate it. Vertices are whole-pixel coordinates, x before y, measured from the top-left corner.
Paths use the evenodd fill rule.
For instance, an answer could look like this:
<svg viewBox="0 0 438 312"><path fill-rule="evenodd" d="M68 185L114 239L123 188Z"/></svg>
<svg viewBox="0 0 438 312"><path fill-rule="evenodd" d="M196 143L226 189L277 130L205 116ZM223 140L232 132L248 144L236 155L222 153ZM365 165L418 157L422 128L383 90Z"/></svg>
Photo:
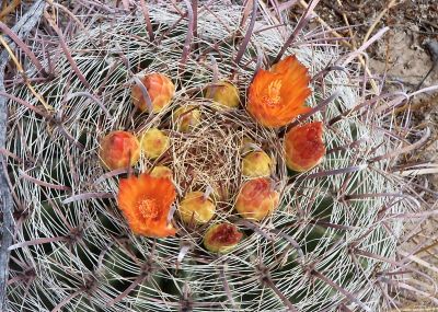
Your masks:
<svg viewBox="0 0 438 312"><path fill-rule="evenodd" d="M161 112L171 103L172 97L175 94L175 85L169 77L153 72L146 74L140 80L148 91L153 113ZM140 85L132 85L131 95L134 105L136 105L141 112L148 112L148 102L143 96Z"/></svg>

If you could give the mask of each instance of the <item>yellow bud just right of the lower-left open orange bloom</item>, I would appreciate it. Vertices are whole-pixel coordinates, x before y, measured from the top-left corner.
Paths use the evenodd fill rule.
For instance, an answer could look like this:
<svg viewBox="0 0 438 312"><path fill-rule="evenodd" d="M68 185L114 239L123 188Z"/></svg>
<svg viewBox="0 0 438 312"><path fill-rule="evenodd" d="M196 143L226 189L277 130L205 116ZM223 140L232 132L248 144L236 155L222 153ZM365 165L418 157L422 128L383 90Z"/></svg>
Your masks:
<svg viewBox="0 0 438 312"><path fill-rule="evenodd" d="M203 192L191 192L181 201L178 211L184 222L204 224L215 216L216 206Z"/></svg>

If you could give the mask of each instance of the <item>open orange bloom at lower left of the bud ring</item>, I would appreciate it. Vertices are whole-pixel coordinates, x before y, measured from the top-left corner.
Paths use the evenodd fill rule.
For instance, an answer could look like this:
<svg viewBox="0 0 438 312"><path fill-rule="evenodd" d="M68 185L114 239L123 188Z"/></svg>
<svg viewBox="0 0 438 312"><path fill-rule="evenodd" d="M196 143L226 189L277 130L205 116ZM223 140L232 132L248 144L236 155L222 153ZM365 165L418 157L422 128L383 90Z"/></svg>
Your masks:
<svg viewBox="0 0 438 312"><path fill-rule="evenodd" d="M118 207L135 234L165 238L176 233L168 222L176 192L169 177L142 173L138 177L120 178Z"/></svg>

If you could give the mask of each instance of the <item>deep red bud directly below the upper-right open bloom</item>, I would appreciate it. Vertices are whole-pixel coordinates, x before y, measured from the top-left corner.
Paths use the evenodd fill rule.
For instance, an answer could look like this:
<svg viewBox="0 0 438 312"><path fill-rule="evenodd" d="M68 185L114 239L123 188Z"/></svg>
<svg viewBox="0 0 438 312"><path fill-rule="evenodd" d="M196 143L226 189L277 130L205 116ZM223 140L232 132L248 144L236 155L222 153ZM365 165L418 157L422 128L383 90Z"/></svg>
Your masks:
<svg viewBox="0 0 438 312"><path fill-rule="evenodd" d="M291 128L285 137L286 164L290 170L304 172L318 165L325 155L321 122Z"/></svg>

